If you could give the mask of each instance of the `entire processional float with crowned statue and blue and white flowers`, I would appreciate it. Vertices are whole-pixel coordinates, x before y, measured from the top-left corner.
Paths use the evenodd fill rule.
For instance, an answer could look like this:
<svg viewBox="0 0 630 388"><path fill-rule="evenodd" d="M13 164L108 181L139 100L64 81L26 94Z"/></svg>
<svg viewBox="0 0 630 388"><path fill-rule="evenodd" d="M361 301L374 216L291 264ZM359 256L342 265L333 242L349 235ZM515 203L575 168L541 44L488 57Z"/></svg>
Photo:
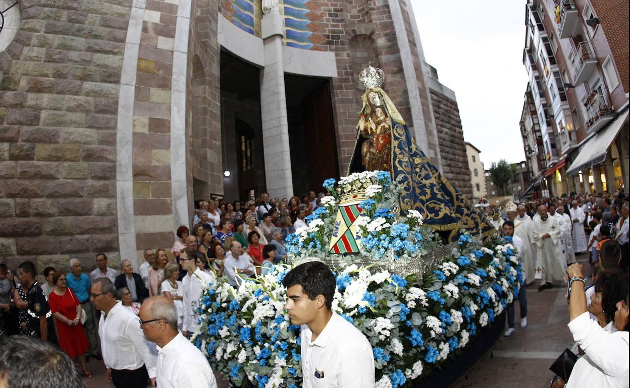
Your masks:
<svg viewBox="0 0 630 388"><path fill-rule="evenodd" d="M289 263L238 289L218 280L199 300L192 341L232 386L301 386L300 327L284 311L282 279L321 260L336 275L333 310L372 344L377 387L441 387L474 365L503 330L523 283L511 238L419 150L381 89L366 86L350 169L287 237Z"/></svg>

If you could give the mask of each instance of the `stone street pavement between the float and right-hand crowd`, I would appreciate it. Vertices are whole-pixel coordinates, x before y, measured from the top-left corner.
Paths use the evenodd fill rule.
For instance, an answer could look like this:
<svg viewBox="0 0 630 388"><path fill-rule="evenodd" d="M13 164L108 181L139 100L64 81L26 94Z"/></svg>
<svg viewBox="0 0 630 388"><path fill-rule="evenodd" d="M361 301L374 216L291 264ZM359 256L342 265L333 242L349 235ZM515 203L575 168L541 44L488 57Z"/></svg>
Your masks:
<svg viewBox="0 0 630 388"><path fill-rule="evenodd" d="M590 274L588 255L579 255L578 262ZM535 280L527 287L527 327L520 327L520 309L515 312L516 330L509 337L501 336L489 353L452 388L532 387L547 388L554 374L551 364L565 348L573 346L566 287L537 291ZM507 323L506 323L507 329Z"/></svg>

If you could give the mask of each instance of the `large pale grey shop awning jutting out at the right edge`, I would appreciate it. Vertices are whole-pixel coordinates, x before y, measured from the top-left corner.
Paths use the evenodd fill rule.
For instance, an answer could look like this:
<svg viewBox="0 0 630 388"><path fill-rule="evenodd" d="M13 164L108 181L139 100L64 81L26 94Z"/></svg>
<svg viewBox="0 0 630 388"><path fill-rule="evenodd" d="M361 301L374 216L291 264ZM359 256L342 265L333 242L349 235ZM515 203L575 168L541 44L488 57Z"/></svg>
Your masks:
<svg viewBox="0 0 630 388"><path fill-rule="evenodd" d="M566 170L566 175L575 175L580 170L585 170L593 165L604 162L610 144L615 140L619 130L626 122L628 110L619 114L604 130L595 133L580 147L578 156Z"/></svg>

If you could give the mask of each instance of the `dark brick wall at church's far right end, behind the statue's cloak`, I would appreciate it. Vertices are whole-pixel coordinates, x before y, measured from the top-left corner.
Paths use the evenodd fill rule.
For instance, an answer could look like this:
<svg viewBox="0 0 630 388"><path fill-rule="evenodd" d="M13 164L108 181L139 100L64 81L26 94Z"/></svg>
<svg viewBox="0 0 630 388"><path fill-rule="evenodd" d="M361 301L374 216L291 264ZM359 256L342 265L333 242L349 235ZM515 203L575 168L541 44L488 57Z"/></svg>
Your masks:
<svg viewBox="0 0 630 388"><path fill-rule="evenodd" d="M457 101L438 91L431 90L431 102L433 114L435 114L435 126L440 138L444 177L472 201L471 172L468 166L464 130L462 130L462 120L459 118Z"/></svg>

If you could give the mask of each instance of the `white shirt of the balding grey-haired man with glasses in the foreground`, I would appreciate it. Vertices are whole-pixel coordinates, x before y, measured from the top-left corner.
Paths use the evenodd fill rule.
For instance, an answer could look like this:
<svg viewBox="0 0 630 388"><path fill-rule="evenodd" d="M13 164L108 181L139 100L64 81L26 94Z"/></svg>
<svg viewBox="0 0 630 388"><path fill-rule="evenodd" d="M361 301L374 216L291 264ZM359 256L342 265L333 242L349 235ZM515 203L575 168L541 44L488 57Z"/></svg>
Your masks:
<svg viewBox="0 0 630 388"><path fill-rule="evenodd" d="M160 388L217 388L212 368L203 353L178 333L157 346L157 386Z"/></svg>

